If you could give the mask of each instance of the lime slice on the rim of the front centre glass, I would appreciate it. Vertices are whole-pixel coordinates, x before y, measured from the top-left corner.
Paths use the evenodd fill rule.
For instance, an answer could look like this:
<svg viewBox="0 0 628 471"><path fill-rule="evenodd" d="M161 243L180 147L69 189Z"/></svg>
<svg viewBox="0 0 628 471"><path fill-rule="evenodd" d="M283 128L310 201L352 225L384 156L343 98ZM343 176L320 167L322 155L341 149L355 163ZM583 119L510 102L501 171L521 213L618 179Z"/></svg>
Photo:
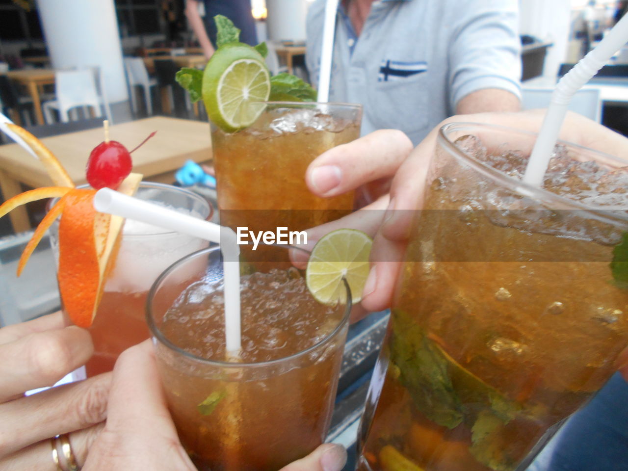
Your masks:
<svg viewBox="0 0 628 471"><path fill-rule="evenodd" d="M346 303L344 278L352 302L358 303L369 276L372 244L371 237L355 229L338 229L321 237L310 254L305 272L311 295L323 304Z"/></svg>

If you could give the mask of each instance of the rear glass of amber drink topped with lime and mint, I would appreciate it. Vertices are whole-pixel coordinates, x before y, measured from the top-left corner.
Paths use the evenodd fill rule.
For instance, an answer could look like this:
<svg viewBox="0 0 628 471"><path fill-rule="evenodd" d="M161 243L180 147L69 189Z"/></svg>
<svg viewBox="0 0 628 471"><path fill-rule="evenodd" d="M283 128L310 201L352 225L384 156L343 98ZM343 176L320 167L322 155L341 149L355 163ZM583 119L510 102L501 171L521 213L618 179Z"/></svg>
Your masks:
<svg viewBox="0 0 628 471"><path fill-rule="evenodd" d="M301 231L348 214L354 194L317 197L305 171L323 152L359 138L361 121L360 105L268 102L259 119L237 133L212 124L220 224L256 233Z"/></svg>

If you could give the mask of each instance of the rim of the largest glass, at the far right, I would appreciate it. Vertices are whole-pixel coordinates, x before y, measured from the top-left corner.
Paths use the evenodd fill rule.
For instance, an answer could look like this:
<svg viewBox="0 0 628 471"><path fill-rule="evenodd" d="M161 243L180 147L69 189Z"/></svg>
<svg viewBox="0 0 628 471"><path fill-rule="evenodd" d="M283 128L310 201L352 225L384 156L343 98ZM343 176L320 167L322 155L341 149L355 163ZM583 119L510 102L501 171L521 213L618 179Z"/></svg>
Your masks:
<svg viewBox="0 0 628 471"><path fill-rule="evenodd" d="M498 129L499 131L506 131L509 133L517 133L523 134L527 136L538 136L538 133L534 133L533 131L528 131L526 129L517 129L515 127L509 126L501 126L500 124L490 124L483 122L450 122L444 124L438 129L438 137L437 141L444 149L452 154L454 158L458 160L463 160L465 163L470 165L475 171L480 174L487 176L491 180L499 183L502 187L511 188L511 190L519 195L524 197L535 197L538 195L537 199L543 203L560 203L560 205L570 207L569 209L578 209L578 210L586 210L589 212L600 212L600 211L613 211L613 210L627 210L627 207L617 207L617 206L597 206L597 205L587 205L585 203L579 202L577 200L572 200L568 197L558 195L556 193L552 193L545 188L536 187L535 185L531 185L530 183L526 183L523 180L518 180L512 176L506 175L499 170L496 170L492 166L484 163L480 160L477 160L474 156L471 156L462 149L458 148L457 144L453 142L447 133L453 133L454 131L458 131L460 129L464 129L465 127L484 127L484 128L493 128ZM561 144L566 148L576 149L580 151L585 151L589 154L597 154L598 156L602 156L607 160L614 161L616 163L622 164L621 166L628 166L628 160L624 160L612 154L607 154L602 151L598 151L595 149L591 149L580 144L571 143L570 141L565 141L563 139L557 139L557 144ZM608 216L606 216L608 217ZM627 220L628 215L625 217L614 217L614 219L622 219Z"/></svg>

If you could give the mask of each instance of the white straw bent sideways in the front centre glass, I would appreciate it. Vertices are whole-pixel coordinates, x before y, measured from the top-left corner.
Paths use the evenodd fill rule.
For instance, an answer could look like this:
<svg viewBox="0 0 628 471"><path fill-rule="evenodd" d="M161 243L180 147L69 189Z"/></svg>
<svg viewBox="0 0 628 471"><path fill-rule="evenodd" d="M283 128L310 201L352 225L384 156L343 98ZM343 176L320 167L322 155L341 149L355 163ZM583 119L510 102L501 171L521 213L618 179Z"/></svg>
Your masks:
<svg viewBox="0 0 628 471"><path fill-rule="evenodd" d="M220 244L225 273L225 349L230 357L237 357L241 349L241 326L240 247L236 243L236 233L229 227L129 197L110 188L96 192L94 208L101 213L146 222Z"/></svg>

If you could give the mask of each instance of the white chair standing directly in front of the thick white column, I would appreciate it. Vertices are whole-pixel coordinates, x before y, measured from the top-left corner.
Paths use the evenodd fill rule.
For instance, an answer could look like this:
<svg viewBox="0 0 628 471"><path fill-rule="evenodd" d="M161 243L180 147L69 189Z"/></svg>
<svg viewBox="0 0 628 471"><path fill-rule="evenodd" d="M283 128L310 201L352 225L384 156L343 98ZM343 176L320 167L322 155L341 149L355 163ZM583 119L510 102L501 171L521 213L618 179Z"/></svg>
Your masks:
<svg viewBox="0 0 628 471"><path fill-rule="evenodd" d="M98 82L101 82L100 87ZM99 90L100 89L100 90ZM102 116L101 106L111 121L111 111L106 96L102 95L104 87L100 73L92 68L58 70L55 72L55 90L57 98L43 103L43 112L48 124L54 122L52 111L58 112L60 121L70 121L70 111L78 116L77 107L91 107L95 116Z"/></svg>

